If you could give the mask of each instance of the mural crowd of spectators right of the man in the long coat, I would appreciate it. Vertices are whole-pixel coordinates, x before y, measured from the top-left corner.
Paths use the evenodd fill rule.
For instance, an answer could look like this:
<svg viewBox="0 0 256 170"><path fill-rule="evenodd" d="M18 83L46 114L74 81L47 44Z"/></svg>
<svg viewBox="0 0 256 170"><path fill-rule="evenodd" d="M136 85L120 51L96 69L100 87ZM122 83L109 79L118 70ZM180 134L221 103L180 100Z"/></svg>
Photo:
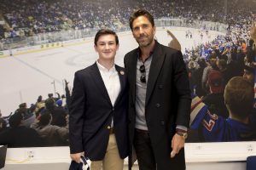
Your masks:
<svg viewBox="0 0 256 170"><path fill-rule="evenodd" d="M255 23L243 20L225 36L186 51L192 96L202 102L192 107L189 142L256 139L255 42Z"/></svg>

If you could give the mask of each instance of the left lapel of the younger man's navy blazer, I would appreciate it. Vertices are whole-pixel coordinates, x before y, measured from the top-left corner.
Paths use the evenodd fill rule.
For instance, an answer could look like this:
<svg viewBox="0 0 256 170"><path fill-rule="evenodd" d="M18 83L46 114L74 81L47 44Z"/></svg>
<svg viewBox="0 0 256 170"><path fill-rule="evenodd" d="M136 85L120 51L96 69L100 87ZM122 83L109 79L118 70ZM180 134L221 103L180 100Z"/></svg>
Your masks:
<svg viewBox="0 0 256 170"><path fill-rule="evenodd" d="M108 95L107 88L105 87L105 84L103 82L101 72L99 71L99 68L96 65L96 63L91 67L90 73L91 73L90 75L91 75L92 79L94 80L94 82L96 82L96 87L99 88L99 90L102 92L102 96L108 100L110 105L112 105L111 100ZM88 81L90 81L90 80L88 80Z"/></svg>

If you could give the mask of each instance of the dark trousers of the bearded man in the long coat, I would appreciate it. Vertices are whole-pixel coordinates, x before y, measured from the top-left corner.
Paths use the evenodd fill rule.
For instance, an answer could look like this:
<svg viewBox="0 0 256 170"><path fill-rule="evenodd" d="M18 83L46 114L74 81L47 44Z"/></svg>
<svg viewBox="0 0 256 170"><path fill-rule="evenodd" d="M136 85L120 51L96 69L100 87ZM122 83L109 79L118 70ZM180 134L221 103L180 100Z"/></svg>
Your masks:
<svg viewBox="0 0 256 170"><path fill-rule="evenodd" d="M135 129L134 148L140 170L156 170L154 152L148 131Z"/></svg>

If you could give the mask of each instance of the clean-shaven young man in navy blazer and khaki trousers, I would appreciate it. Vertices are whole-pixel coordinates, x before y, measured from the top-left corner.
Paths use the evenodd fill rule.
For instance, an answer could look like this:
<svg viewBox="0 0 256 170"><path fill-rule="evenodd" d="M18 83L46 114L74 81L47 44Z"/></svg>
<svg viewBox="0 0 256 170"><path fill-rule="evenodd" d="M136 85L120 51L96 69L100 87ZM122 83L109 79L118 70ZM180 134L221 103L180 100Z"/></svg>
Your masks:
<svg viewBox="0 0 256 170"><path fill-rule="evenodd" d="M75 73L69 107L70 153L89 157L92 170L121 170L128 156L128 87L124 68L114 65L115 32L96 33L94 65Z"/></svg>

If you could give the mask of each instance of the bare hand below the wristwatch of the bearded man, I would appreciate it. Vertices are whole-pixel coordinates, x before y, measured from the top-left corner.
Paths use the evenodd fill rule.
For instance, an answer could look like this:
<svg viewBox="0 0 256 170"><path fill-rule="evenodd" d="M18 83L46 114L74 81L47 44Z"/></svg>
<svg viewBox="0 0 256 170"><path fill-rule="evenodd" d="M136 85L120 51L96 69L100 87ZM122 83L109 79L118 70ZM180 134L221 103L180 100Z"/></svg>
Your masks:
<svg viewBox="0 0 256 170"><path fill-rule="evenodd" d="M181 150L184 147L184 144L185 139L176 133L172 138L171 158L178 154L179 150Z"/></svg>

